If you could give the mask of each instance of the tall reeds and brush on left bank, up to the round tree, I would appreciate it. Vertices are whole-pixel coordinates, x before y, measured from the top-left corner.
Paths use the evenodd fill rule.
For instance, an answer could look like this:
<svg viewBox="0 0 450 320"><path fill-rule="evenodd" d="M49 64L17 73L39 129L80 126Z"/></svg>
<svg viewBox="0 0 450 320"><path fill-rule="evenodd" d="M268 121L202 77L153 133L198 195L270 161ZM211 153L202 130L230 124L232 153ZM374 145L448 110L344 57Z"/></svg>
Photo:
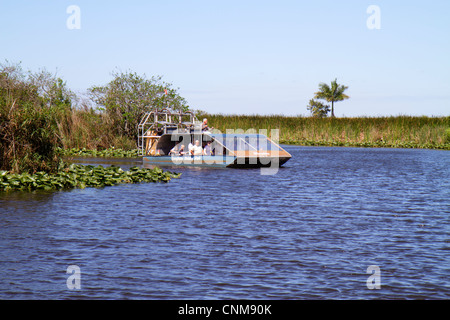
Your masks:
<svg viewBox="0 0 450 320"><path fill-rule="evenodd" d="M62 165L58 147L136 148L114 132L109 115L76 108L74 100L65 82L46 71L0 64L0 170L56 172Z"/></svg>

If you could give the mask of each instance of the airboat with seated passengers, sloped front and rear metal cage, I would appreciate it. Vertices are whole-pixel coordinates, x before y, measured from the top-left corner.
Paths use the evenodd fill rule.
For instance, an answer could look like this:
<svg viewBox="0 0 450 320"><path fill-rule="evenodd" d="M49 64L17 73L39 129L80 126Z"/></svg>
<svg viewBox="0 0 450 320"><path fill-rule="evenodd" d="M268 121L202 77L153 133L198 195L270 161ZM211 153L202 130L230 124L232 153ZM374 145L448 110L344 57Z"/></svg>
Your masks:
<svg viewBox="0 0 450 320"><path fill-rule="evenodd" d="M202 129L192 112L147 112L138 130L144 164L260 168L279 167L291 158L261 133Z"/></svg>

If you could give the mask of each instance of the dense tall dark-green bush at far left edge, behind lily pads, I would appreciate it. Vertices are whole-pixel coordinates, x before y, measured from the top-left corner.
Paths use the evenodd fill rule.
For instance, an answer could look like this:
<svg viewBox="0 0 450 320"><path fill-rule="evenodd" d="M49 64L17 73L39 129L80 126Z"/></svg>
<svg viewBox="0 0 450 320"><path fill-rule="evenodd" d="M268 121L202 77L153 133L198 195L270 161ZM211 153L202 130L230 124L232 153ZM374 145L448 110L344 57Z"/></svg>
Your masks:
<svg viewBox="0 0 450 320"><path fill-rule="evenodd" d="M71 92L48 72L25 75L17 65L0 68L0 170L56 170L55 155Z"/></svg>

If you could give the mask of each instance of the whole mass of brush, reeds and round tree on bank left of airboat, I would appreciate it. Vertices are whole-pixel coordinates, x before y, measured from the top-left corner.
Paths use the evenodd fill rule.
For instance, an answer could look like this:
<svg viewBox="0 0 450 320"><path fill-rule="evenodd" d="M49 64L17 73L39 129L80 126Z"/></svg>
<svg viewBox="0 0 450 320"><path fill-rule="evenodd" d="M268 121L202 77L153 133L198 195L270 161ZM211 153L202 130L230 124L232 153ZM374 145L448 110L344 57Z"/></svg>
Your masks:
<svg viewBox="0 0 450 320"><path fill-rule="evenodd" d="M135 156L144 112L188 108L177 89L161 77L147 79L132 72L112 76L107 85L90 88L89 99L83 99L45 70L24 72L20 64L0 64L0 170L55 173L65 153L61 149L84 148L79 155Z"/></svg>

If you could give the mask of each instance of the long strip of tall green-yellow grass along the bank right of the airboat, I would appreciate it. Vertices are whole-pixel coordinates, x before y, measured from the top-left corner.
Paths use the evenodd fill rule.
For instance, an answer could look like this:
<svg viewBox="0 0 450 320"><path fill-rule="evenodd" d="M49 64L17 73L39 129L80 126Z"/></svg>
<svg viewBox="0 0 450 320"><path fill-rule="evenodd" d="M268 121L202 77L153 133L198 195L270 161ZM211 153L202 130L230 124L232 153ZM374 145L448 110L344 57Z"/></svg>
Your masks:
<svg viewBox="0 0 450 320"><path fill-rule="evenodd" d="M357 146L450 150L450 117L313 118L203 114L227 129L279 129L279 142L307 146Z"/></svg>

